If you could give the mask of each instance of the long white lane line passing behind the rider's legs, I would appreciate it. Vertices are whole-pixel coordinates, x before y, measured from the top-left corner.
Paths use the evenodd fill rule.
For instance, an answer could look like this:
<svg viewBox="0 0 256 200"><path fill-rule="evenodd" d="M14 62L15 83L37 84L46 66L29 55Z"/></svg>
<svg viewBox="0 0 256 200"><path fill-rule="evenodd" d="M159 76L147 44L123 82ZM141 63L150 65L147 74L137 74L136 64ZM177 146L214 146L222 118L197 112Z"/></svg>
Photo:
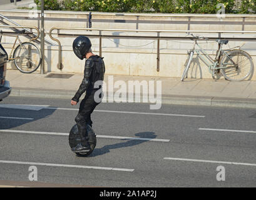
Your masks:
<svg viewBox="0 0 256 200"><path fill-rule="evenodd" d="M43 108L43 109L57 109L57 110L69 110L78 111L75 108ZM190 118L205 118L205 116L200 115L188 115L188 114L169 114L169 113L141 113L141 112L130 112L130 111L107 111L107 110L94 110L100 113L123 113L123 114L148 114L148 115L160 115L160 116L177 116L177 117L190 117Z"/></svg>

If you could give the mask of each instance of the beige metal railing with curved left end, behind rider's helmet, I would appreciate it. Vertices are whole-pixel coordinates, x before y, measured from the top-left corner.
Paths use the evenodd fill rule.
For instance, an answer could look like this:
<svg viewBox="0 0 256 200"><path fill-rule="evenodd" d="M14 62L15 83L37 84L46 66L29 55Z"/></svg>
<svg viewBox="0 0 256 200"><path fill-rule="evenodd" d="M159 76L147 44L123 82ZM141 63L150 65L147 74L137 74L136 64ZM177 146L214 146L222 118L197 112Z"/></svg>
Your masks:
<svg viewBox="0 0 256 200"><path fill-rule="evenodd" d="M217 37L208 37L209 40L215 39L229 39L230 41L256 41L256 37L222 37L221 34L223 33L250 33L256 34L256 31L178 31L178 30L138 30L138 29L94 29L94 28L74 28L74 27L52 27L49 31L49 36L53 41L58 42L58 64L57 68L62 69L63 63L61 58L61 42L53 37L53 31L57 30L57 34L59 37L74 37L79 35L84 35L88 37L98 37L99 38L99 52L100 56L102 56L102 38L120 38L120 39L156 39L157 40L157 57L156 57L156 71L160 71L160 40L168 40L168 39L175 39L175 40L188 40L192 39L192 37L168 37L168 36L160 36L161 32L165 33L186 33L186 32L194 32L194 33L217 33ZM79 31L99 31L99 34L90 34L86 32L86 34L61 34L60 30L79 30ZM121 32L155 32L156 36L116 36L116 35L106 35L102 34L102 31L121 31Z"/></svg>

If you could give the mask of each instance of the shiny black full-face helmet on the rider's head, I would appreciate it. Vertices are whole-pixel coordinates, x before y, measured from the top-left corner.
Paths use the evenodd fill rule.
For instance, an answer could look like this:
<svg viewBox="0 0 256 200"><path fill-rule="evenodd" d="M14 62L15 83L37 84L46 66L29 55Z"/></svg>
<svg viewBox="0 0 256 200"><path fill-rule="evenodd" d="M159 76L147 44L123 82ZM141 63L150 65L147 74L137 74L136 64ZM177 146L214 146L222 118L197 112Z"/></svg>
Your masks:
<svg viewBox="0 0 256 200"><path fill-rule="evenodd" d="M91 49L91 41L86 36L78 36L73 42L73 51L79 59L83 60L86 53Z"/></svg>

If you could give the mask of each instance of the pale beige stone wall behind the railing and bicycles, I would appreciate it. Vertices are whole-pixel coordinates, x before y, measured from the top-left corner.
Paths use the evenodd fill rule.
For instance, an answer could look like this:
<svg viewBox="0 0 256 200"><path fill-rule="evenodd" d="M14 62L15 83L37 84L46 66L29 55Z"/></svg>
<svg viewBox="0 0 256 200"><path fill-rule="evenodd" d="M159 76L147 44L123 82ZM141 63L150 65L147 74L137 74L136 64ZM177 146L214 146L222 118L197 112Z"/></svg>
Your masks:
<svg viewBox="0 0 256 200"><path fill-rule="evenodd" d="M31 15L29 11L0 11L0 14L21 25L40 26L39 13ZM45 71L56 73L83 73L84 61L80 61L74 55L71 44L74 37L58 37L56 31L53 36L61 41L62 45L62 70L56 66L58 63L58 46L49 36L49 29L58 27L88 27L88 12L61 12L45 11L46 39L53 44L46 44ZM32 17L31 17L32 16ZM149 29L149 30L215 30L215 31L256 31L256 16L248 15L226 15L225 18L218 18L215 15L198 14L106 14L93 13L92 27L104 29ZM4 21L6 22L6 21ZM3 29L4 31L4 29ZM90 37L97 35L98 31L59 31L66 34L84 34ZM113 36L157 36L156 32L126 32L126 31L102 31L103 35ZM197 33L205 37L218 37L218 33ZM174 36L184 37L185 33L161 33L161 37ZM255 37L256 34L222 34L222 37ZM21 37L23 38L23 37ZM23 38L24 41L28 40ZM3 46L11 51L13 44L12 37L3 37ZM99 39L91 37L93 51L99 53ZM230 41L225 48L240 46L244 41ZM214 55L218 44L214 41L200 41L207 53ZM191 49L193 41L166 39L160 41L160 71L157 66L157 40L156 39L102 39L102 56L105 58L107 74L123 74L131 76L164 76L180 77L183 66L187 59L187 50ZM246 41L242 47L256 61L256 42ZM214 56L213 56L214 58ZM9 68L14 68L9 64ZM192 68L189 71L192 78L212 78L208 68L203 61L194 56ZM253 74L252 79L256 79Z"/></svg>

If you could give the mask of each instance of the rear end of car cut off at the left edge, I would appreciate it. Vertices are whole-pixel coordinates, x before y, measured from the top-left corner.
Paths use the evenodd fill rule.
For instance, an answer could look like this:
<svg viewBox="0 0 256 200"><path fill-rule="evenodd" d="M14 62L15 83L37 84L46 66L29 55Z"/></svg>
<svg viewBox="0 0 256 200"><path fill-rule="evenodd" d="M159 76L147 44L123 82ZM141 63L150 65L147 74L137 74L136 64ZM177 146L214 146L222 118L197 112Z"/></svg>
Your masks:
<svg viewBox="0 0 256 200"><path fill-rule="evenodd" d="M8 61L8 54L4 47L0 44L0 101L8 97L11 93L9 81L6 81L6 63Z"/></svg>

